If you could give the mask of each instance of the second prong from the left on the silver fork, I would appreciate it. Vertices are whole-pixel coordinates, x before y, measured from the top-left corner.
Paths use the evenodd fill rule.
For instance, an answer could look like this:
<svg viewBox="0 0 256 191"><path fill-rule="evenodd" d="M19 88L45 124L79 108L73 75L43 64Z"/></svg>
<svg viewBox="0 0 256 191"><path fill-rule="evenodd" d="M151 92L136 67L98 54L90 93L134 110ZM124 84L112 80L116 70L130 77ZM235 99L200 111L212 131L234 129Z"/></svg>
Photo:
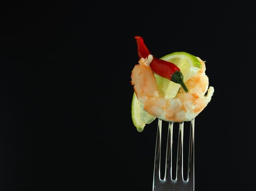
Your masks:
<svg viewBox="0 0 256 191"><path fill-rule="evenodd" d="M166 169L164 180L173 180L172 175L172 157L173 157L173 122L168 124L167 146L166 146Z"/></svg>

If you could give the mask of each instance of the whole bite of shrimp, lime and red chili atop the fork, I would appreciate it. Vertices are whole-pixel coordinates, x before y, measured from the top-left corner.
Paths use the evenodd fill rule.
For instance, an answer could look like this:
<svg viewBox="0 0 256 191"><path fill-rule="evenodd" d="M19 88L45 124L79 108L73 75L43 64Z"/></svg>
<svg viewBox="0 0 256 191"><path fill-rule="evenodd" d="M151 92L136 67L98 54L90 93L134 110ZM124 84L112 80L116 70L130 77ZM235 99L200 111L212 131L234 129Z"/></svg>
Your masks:
<svg viewBox="0 0 256 191"><path fill-rule="evenodd" d="M214 93L205 62L187 52L173 52L158 59L151 55L143 38L135 39L139 64L134 65L131 74L134 126L141 132L155 118L167 122L193 120Z"/></svg>

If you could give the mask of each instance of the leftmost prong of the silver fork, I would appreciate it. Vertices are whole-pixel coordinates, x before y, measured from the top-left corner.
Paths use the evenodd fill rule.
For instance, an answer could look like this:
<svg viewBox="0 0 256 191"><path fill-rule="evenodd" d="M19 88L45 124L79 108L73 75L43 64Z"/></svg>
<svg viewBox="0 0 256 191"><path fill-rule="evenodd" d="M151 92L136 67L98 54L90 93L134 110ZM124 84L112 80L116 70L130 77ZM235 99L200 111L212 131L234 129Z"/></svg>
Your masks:
<svg viewBox="0 0 256 191"><path fill-rule="evenodd" d="M155 163L153 172L153 185L160 181L160 161L161 161L161 132L162 132L162 120L158 119L157 134L156 134L156 150L155 150Z"/></svg>

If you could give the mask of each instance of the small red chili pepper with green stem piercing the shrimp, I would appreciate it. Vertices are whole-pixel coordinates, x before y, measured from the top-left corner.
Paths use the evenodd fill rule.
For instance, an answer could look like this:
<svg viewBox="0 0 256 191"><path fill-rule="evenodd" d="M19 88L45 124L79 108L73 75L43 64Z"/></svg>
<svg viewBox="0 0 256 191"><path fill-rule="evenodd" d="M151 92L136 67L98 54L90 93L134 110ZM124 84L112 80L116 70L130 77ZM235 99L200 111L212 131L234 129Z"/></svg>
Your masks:
<svg viewBox="0 0 256 191"><path fill-rule="evenodd" d="M138 47L138 56L139 58L146 58L151 53L149 49L147 49L143 38L139 36L135 36L137 47ZM180 69L174 63L164 61L162 59L158 59L153 56L153 60L150 63L150 67L154 73L169 79L175 83L179 83L181 87L183 87L185 92L188 92L187 87L183 81L183 74Z"/></svg>

